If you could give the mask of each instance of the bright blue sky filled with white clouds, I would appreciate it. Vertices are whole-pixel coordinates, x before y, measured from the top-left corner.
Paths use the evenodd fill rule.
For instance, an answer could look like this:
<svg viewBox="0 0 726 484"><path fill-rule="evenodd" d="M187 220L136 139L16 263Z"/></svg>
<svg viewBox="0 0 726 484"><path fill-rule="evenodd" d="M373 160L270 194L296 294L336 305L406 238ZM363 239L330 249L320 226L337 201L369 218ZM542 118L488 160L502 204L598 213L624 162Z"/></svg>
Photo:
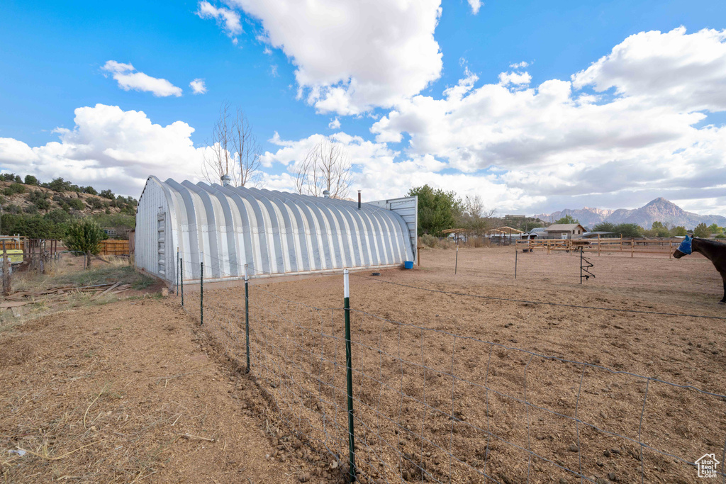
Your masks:
<svg viewBox="0 0 726 484"><path fill-rule="evenodd" d="M275 189L330 136L372 198L725 213L725 19L722 1L5 0L0 169L136 197L148 175L201 179L229 101ZM181 95L121 89L134 73Z"/></svg>

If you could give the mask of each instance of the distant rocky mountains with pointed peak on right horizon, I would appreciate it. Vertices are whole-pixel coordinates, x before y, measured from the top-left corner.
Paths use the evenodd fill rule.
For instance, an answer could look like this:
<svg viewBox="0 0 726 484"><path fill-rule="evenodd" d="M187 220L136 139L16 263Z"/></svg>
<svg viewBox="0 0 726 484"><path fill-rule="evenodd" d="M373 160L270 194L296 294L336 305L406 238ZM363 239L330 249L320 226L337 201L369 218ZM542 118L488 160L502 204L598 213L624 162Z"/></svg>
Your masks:
<svg viewBox="0 0 726 484"><path fill-rule="evenodd" d="M726 217L724 216L698 215L698 213L687 212L662 197L658 197L640 208L619 208L617 210L588 207L576 210L566 208L555 213L539 213L534 217L547 222L554 222L567 215L576 218L582 225L590 228L600 222L635 223L646 229L649 229L653 222L668 223L672 226L685 226L686 229L693 229L699 223L706 223L706 225L716 223L719 227L726 226Z"/></svg>

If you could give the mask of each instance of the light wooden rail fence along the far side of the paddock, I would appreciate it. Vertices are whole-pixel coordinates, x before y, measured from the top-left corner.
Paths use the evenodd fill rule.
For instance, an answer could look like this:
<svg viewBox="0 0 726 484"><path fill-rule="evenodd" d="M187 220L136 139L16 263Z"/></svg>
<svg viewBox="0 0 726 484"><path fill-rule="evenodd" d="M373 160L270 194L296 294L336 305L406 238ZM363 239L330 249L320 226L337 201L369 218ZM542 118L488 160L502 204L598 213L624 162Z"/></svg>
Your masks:
<svg viewBox="0 0 726 484"><path fill-rule="evenodd" d="M671 237L661 239L624 239L619 238L580 238L580 239L526 239L515 242L517 249L530 251L541 249L548 254L557 251L574 252L582 248L585 252L622 252L635 254L662 254L672 256L673 251L683 241L682 238Z"/></svg>

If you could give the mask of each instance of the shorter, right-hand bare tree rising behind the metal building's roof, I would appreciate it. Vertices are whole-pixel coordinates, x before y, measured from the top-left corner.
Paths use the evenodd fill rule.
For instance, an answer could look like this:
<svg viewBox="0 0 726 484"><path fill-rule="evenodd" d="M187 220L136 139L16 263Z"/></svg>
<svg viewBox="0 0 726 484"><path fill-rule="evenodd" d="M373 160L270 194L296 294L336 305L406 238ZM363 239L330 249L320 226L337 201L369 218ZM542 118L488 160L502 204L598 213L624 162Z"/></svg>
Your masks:
<svg viewBox="0 0 726 484"><path fill-rule="evenodd" d="M351 160L342 144L325 137L293 168L295 189L320 197L345 198L353 182Z"/></svg>

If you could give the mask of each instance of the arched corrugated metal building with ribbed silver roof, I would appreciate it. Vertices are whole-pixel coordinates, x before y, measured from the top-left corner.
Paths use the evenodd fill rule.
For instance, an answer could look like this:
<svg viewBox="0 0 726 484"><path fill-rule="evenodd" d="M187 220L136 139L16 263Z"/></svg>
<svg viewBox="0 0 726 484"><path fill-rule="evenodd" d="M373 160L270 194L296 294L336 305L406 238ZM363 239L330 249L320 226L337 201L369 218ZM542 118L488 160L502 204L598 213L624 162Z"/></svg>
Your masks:
<svg viewBox="0 0 726 484"><path fill-rule="evenodd" d="M381 268L415 261L417 198L361 204L265 189L147 179L136 267L177 282ZM181 271L180 271L181 272Z"/></svg>

